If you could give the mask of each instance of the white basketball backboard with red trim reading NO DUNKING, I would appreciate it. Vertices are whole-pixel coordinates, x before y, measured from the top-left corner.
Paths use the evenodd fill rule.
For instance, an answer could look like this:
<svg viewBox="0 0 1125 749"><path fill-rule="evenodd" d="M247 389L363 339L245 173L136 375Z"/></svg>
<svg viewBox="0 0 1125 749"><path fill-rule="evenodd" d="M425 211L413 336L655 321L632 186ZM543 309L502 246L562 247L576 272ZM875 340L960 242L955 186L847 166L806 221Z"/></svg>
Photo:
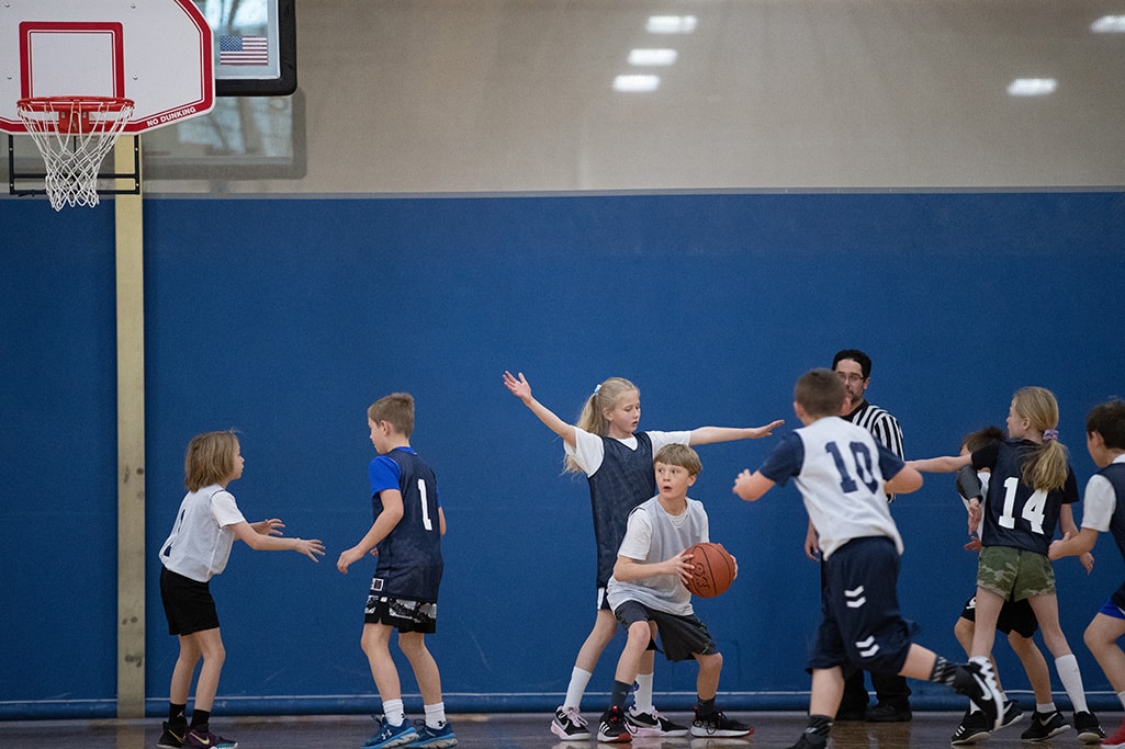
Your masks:
<svg viewBox="0 0 1125 749"><path fill-rule="evenodd" d="M212 29L194 0L4 0L0 6L0 130L24 133L29 97L135 102L125 133L206 114L215 105Z"/></svg>

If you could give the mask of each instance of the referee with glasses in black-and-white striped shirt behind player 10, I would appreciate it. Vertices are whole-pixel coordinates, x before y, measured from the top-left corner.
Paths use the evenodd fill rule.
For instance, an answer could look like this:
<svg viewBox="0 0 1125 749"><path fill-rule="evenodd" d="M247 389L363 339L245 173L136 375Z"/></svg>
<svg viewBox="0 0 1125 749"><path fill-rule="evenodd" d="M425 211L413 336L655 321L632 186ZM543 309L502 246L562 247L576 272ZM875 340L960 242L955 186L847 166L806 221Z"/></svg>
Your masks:
<svg viewBox="0 0 1125 749"><path fill-rule="evenodd" d="M846 399L842 416L862 426L899 458L902 452L902 430L899 421L879 406L868 403L865 394L871 385L871 357L858 349L845 349L832 358L832 371L844 380ZM888 502L894 495L886 496ZM867 689L862 670L856 670L844 684L837 720L867 720L875 723L901 723L909 721L910 687L906 677L897 674L872 674L871 684L875 688L878 702L867 707Z"/></svg>

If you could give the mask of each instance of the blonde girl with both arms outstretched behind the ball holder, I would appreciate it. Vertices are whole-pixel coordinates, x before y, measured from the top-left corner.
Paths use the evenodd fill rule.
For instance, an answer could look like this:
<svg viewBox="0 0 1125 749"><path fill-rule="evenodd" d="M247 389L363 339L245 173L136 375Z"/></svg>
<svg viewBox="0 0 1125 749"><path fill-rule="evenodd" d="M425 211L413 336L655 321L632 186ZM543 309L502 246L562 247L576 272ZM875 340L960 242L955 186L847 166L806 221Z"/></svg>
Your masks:
<svg viewBox="0 0 1125 749"><path fill-rule="evenodd" d="M611 377L586 398L578 423L567 424L531 397L531 386L504 372L504 386L523 401L555 434L562 437L566 470L583 473L590 481L590 503L594 513L594 540L597 544L597 615L594 626L575 659L566 702L555 712L551 731L565 741L590 738L579 703L597 659L618 631L605 598L605 586L618 560L618 549L626 534L629 513L656 496L652 455L666 444L708 444L730 440L756 440L768 436L783 422L738 428L702 426L690 432L638 432L640 390L632 382ZM637 676L634 705L626 714L630 731L645 736L686 736L687 727L677 725L652 706L652 651L646 652Z"/></svg>

